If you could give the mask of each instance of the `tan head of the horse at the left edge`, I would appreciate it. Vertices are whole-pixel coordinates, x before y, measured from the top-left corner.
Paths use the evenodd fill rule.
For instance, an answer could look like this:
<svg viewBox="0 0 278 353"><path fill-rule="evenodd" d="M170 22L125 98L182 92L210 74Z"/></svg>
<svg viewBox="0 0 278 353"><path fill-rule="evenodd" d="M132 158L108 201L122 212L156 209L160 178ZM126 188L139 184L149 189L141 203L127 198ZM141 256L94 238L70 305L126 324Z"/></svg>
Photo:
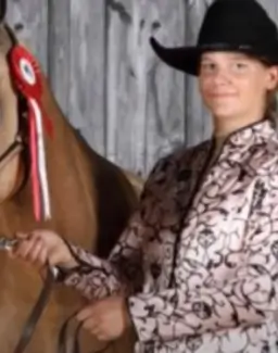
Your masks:
<svg viewBox="0 0 278 353"><path fill-rule="evenodd" d="M5 1L1 0L0 5L0 202L3 202L24 182L26 102L11 77L9 58L16 40L3 22Z"/></svg>

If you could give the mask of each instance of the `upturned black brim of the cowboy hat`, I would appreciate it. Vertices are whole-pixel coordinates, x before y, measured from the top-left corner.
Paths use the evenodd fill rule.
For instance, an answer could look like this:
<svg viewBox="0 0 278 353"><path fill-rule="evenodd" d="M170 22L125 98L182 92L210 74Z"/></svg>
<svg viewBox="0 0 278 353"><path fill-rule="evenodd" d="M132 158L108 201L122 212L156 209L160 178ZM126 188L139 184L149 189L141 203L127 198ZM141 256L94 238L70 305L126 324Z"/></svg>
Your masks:
<svg viewBox="0 0 278 353"><path fill-rule="evenodd" d="M150 45L156 55L167 65L193 76L199 75L202 53L208 51L237 51L255 56L268 64L278 64L278 48L276 48L276 50L275 48L271 48L271 53L264 55L263 51L254 50L248 46L241 45L231 46L215 43L200 47L165 48L153 37L150 38Z"/></svg>

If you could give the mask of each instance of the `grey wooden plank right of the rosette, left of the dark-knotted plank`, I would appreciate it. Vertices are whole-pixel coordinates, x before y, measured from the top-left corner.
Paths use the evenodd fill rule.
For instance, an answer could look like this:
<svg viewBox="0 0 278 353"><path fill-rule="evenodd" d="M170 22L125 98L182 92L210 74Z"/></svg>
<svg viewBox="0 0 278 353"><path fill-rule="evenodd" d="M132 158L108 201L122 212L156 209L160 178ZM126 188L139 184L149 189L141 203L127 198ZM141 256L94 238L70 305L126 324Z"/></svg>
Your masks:
<svg viewBox="0 0 278 353"><path fill-rule="evenodd" d="M91 146L104 153L105 2L70 3L70 119L78 129L90 125Z"/></svg>

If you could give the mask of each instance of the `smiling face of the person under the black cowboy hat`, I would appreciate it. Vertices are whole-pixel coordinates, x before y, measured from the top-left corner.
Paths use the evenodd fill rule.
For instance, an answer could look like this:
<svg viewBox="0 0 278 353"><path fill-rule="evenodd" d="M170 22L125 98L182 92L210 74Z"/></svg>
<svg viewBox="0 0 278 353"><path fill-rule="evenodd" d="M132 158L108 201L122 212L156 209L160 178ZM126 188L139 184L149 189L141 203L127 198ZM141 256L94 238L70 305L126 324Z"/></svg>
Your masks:
<svg viewBox="0 0 278 353"><path fill-rule="evenodd" d="M278 67L232 52L207 52L201 58L199 87L216 119L252 123L263 118L266 96L278 84Z"/></svg>

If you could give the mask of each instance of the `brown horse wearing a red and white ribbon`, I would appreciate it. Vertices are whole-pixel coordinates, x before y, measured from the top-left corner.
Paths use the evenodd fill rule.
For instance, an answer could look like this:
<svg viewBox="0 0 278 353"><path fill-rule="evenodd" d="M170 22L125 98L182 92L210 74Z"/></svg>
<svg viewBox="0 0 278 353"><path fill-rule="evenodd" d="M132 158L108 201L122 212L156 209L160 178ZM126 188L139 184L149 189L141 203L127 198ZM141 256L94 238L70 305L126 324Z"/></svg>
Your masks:
<svg viewBox="0 0 278 353"><path fill-rule="evenodd" d="M54 127L53 138L46 139L52 218L36 223L29 154L26 144L21 142L26 138L26 102L15 89L7 60L14 45L12 39L11 31L2 23L0 235L13 237L18 230L50 228L70 241L106 256L137 205L141 180L129 174L129 182L124 172L88 148L63 116L45 79L42 105ZM0 351L12 353L43 283L34 268L10 260L4 252L0 253ZM26 353L55 353L62 324L83 303L78 293L56 286ZM103 345L89 335L81 336L86 353L96 352ZM130 352L131 341L128 335L104 352Z"/></svg>

